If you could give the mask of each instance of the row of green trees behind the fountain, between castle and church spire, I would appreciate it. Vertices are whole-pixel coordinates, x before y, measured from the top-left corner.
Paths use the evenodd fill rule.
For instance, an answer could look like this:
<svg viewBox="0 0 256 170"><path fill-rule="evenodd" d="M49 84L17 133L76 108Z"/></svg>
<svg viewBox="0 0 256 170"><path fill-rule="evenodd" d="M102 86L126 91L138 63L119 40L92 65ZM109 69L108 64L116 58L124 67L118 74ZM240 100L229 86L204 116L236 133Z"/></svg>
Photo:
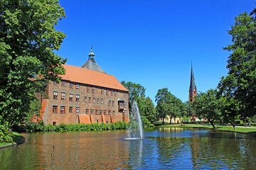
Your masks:
<svg viewBox="0 0 256 170"><path fill-rule="evenodd" d="M139 112L142 115L142 122L146 126L155 124L159 119L164 123L167 115L171 119L181 118L186 115L188 107L182 103L181 99L176 98L167 88L159 89L156 94L157 106L154 106L151 98L145 96L144 86L131 81L121 82L129 90L129 112L132 112L132 103L137 101Z"/></svg>

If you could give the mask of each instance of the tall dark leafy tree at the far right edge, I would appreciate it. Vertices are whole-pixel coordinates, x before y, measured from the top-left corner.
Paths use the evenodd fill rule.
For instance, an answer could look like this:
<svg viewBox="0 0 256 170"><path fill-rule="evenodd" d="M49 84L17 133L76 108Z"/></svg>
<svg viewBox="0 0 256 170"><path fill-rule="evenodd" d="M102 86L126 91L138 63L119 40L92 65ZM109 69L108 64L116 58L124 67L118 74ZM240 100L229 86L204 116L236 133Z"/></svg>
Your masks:
<svg viewBox="0 0 256 170"><path fill-rule="evenodd" d="M231 52L227 64L228 76L222 77L218 84L220 94L240 103L240 118L243 119L251 118L256 113L255 11L240 13L235 17L231 30L228 30L233 42L224 47L224 50Z"/></svg>

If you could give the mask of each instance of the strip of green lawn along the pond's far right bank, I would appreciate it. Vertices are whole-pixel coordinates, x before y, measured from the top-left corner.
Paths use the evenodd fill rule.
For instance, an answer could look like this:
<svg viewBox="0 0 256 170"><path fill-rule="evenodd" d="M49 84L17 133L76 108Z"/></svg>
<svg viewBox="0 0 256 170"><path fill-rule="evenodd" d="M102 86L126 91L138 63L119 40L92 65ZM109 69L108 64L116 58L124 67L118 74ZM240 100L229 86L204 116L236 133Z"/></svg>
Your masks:
<svg viewBox="0 0 256 170"><path fill-rule="evenodd" d="M188 125L181 125L181 124L177 124L177 125L161 125L158 127L173 127L173 128L208 128L208 129L212 129L213 127L210 125L194 125L194 124L188 124ZM233 128L233 126L230 125L215 125L215 130L225 130L228 132L243 132L243 133L247 133L247 134L251 134L251 135L256 135L256 128L255 127L242 127L242 126L236 126L235 130Z"/></svg>

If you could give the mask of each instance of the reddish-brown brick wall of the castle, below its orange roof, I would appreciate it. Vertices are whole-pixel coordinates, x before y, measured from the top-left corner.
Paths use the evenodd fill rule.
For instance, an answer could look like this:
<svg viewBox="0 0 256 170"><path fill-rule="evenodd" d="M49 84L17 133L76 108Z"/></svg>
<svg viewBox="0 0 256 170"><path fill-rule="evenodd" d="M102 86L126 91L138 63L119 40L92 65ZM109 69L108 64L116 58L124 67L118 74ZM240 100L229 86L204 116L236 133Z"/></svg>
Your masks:
<svg viewBox="0 0 256 170"><path fill-rule="evenodd" d="M70 84L73 84L73 88L70 88ZM102 123L102 115L104 115L106 123L111 123L112 120L114 120L114 122L123 120L129 121L129 96L127 91L118 91L116 89L107 89L105 87L91 86L87 84L79 84L79 89L77 89L76 84L77 83L75 82L65 81L65 84L60 82L60 84L55 85L53 82L50 82L47 94L48 107L47 111L45 111L43 115L43 122L46 123L46 125L53 125L53 122L55 122L56 125L60 125L60 123L79 123L79 114L92 114L92 121L94 123ZM89 92L87 92L88 86ZM114 91L116 91L116 95ZM54 92L55 94L56 92L58 93L56 99L53 98ZM65 93L64 100L61 99L62 93ZM70 94L73 94L73 101L70 101ZM79 95L79 101L76 101L77 95ZM85 101L85 96L87 98L87 101ZM100 99L100 103L98 103L98 98ZM102 98L104 101L103 103L101 103ZM123 110L119 110L118 101L120 98L122 98L124 100L124 103L126 103ZM53 106L57 106L57 113L53 113ZM65 107L64 113L60 113L61 106ZM70 113L69 111L70 107L73 107L72 113ZM76 113L77 107L79 107L79 113ZM86 111L86 109L88 110ZM91 113L91 109L93 109L93 113ZM97 115L96 110L98 111ZM102 115L100 115L100 110L102 110ZM104 111L106 111L106 115L104 114Z"/></svg>

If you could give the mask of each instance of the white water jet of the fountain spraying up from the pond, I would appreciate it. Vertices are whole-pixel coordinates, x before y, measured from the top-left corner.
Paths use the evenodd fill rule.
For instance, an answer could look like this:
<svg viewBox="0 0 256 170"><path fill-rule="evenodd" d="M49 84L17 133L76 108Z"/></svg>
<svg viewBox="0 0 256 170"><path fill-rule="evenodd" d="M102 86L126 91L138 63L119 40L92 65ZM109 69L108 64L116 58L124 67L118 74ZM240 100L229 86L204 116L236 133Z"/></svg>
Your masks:
<svg viewBox="0 0 256 170"><path fill-rule="evenodd" d="M136 101L132 103L132 114L130 115L128 137L124 140L143 140L142 119L139 114L139 108Z"/></svg>

